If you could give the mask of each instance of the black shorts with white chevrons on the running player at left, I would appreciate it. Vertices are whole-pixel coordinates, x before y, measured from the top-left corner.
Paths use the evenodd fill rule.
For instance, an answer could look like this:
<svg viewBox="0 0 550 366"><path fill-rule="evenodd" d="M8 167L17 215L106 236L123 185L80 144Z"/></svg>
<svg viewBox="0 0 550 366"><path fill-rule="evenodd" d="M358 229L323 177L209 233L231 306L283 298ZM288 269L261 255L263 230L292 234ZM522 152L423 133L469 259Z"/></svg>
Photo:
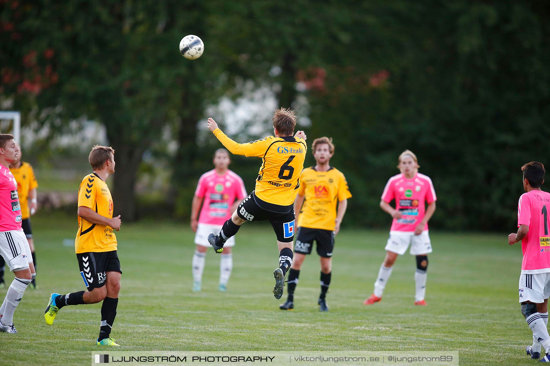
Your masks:
<svg viewBox="0 0 550 366"><path fill-rule="evenodd" d="M106 272L122 273L116 250L79 253L76 259L88 291L105 286Z"/></svg>

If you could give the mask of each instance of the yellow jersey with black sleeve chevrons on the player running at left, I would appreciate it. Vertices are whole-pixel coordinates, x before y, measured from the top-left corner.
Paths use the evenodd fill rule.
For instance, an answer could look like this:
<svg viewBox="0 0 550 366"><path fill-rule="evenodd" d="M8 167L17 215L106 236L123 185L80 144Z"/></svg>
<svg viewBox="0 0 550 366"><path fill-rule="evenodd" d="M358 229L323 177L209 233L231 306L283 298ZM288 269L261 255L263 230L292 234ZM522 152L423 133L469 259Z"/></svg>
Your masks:
<svg viewBox="0 0 550 366"><path fill-rule="evenodd" d="M88 174L80 183L78 207L80 206L89 207L101 216L113 218L111 191L107 183L95 173ZM74 247L76 254L117 250L117 237L110 226L92 224L79 216Z"/></svg>

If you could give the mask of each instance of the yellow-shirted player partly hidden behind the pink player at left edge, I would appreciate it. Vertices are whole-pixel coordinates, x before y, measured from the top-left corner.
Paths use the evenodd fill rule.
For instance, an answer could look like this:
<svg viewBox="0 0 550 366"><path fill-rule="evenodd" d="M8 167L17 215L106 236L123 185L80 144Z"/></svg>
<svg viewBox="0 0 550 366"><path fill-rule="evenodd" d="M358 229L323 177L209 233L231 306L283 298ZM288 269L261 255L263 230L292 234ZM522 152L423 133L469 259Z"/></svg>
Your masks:
<svg viewBox="0 0 550 366"><path fill-rule="evenodd" d="M36 188L38 183L36 182L36 177L32 166L23 160L21 160L21 147L17 145L19 149L17 161L12 162L9 165L9 171L12 172L13 177L17 181L17 192L19 194L19 203L21 204L21 216L23 221L21 221L21 227L25 233L25 237L29 242L29 247L31 249L32 255L32 264L34 264L36 269L36 256L35 256L35 247L34 241L32 241L32 230L31 230L31 215L34 215L37 208L36 201ZM36 289L36 280L31 281L31 285ZM4 260L0 257L0 287L4 286Z"/></svg>

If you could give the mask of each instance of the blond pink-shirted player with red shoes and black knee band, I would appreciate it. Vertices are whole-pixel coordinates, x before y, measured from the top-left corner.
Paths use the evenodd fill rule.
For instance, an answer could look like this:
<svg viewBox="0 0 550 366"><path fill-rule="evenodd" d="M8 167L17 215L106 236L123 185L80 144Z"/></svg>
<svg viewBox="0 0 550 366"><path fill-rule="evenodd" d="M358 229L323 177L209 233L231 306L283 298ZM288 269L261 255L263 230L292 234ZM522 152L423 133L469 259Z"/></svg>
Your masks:
<svg viewBox="0 0 550 366"><path fill-rule="evenodd" d="M374 293L365 300L364 305L371 305L382 300L392 266L397 255L405 254L411 246L410 254L416 256L415 305L426 305L426 270L428 268L428 253L432 252L428 221L436 211L436 191L432 179L418 172L418 160L410 150L399 155L397 176L389 178L382 193L380 207L393 217L392 228L386 245L386 258L380 266L375 282ZM395 200L395 209L389 202ZM426 209L426 203L428 208Z"/></svg>

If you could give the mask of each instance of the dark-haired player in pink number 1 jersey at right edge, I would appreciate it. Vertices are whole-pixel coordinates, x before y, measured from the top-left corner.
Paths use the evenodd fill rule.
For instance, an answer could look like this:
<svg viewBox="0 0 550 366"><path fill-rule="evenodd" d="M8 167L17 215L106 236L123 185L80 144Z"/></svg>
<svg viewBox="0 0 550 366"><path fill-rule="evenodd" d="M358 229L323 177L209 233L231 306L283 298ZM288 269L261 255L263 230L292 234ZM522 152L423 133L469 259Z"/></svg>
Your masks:
<svg viewBox="0 0 550 366"><path fill-rule="evenodd" d="M541 190L544 183L544 165L532 161L521 167L524 194L518 203L518 232L508 235L508 244L521 240L523 261L519 278L521 313L533 332L533 344L526 352L531 358L541 357L541 346L546 356L541 362L550 362L548 324L548 297L550 296L550 234L548 210L550 193Z"/></svg>

